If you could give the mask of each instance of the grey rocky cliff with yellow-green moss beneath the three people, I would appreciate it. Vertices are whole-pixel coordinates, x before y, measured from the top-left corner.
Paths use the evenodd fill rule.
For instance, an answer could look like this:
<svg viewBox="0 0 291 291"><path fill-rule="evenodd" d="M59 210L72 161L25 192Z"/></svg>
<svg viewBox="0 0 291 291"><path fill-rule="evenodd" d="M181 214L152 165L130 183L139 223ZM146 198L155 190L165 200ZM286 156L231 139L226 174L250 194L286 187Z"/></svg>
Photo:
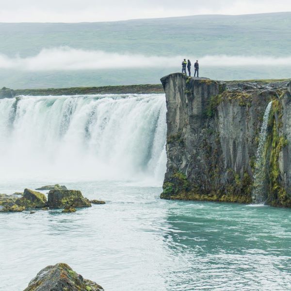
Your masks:
<svg viewBox="0 0 291 291"><path fill-rule="evenodd" d="M218 82L172 74L161 79L167 102L164 199L252 202L259 133L267 203L291 206L291 85Z"/></svg>

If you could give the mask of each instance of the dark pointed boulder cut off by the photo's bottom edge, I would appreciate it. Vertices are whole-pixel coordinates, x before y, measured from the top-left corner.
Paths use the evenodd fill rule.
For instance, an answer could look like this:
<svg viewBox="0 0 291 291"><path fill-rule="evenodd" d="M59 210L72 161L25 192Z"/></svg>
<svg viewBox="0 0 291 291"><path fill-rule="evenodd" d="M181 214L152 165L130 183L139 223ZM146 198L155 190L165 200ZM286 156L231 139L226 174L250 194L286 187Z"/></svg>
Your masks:
<svg viewBox="0 0 291 291"><path fill-rule="evenodd" d="M58 263L42 269L24 291L104 291L104 289L78 275L67 264Z"/></svg>

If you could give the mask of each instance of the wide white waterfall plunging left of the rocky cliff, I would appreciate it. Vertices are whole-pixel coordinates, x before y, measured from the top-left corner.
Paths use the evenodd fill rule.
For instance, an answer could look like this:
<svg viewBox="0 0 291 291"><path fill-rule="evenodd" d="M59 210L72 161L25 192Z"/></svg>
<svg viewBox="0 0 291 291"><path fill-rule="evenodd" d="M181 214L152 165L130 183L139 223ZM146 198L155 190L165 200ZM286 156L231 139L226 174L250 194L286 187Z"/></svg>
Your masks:
<svg viewBox="0 0 291 291"><path fill-rule="evenodd" d="M0 100L0 179L162 182L164 94Z"/></svg>

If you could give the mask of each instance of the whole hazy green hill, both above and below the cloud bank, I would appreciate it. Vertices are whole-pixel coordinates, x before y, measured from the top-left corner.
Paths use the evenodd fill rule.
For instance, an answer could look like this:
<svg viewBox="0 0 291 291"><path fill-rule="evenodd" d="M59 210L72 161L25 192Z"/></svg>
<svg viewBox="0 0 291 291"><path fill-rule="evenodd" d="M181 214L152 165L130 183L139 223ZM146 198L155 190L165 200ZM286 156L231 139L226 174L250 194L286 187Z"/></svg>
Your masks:
<svg viewBox="0 0 291 291"><path fill-rule="evenodd" d="M257 15L196 15L98 23L0 23L0 54L35 56L42 48L70 46L85 50L157 56L290 56L291 12ZM158 83L173 69L74 72L0 71L0 86L14 88L102 86ZM203 65L201 65L201 70ZM204 68L220 79L285 78L291 68Z"/></svg>

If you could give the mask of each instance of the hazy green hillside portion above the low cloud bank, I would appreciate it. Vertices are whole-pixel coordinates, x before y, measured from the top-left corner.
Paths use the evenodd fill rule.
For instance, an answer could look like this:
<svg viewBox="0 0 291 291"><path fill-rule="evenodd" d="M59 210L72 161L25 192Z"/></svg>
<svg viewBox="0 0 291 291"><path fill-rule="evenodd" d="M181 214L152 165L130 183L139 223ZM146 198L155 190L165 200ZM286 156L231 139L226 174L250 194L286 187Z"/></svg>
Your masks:
<svg viewBox="0 0 291 291"><path fill-rule="evenodd" d="M71 46L155 55L290 54L291 12L196 15L97 23L0 23L0 52Z"/></svg>

